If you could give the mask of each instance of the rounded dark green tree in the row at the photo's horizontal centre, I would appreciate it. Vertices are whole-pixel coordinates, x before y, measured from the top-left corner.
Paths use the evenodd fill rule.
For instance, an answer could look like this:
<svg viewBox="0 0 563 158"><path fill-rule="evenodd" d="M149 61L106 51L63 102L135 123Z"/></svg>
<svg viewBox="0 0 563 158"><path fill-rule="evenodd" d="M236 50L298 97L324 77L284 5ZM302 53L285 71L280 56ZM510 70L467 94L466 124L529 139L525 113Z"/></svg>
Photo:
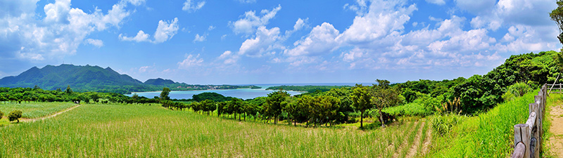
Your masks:
<svg viewBox="0 0 563 158"><path fill-rule="evenodd" d="M277 124L277 117L281 114L281 110L287 105L286 98L289 93L286 91L274 91L268 94L266 98L266 111L274 117L274 124Z"/></svg>

